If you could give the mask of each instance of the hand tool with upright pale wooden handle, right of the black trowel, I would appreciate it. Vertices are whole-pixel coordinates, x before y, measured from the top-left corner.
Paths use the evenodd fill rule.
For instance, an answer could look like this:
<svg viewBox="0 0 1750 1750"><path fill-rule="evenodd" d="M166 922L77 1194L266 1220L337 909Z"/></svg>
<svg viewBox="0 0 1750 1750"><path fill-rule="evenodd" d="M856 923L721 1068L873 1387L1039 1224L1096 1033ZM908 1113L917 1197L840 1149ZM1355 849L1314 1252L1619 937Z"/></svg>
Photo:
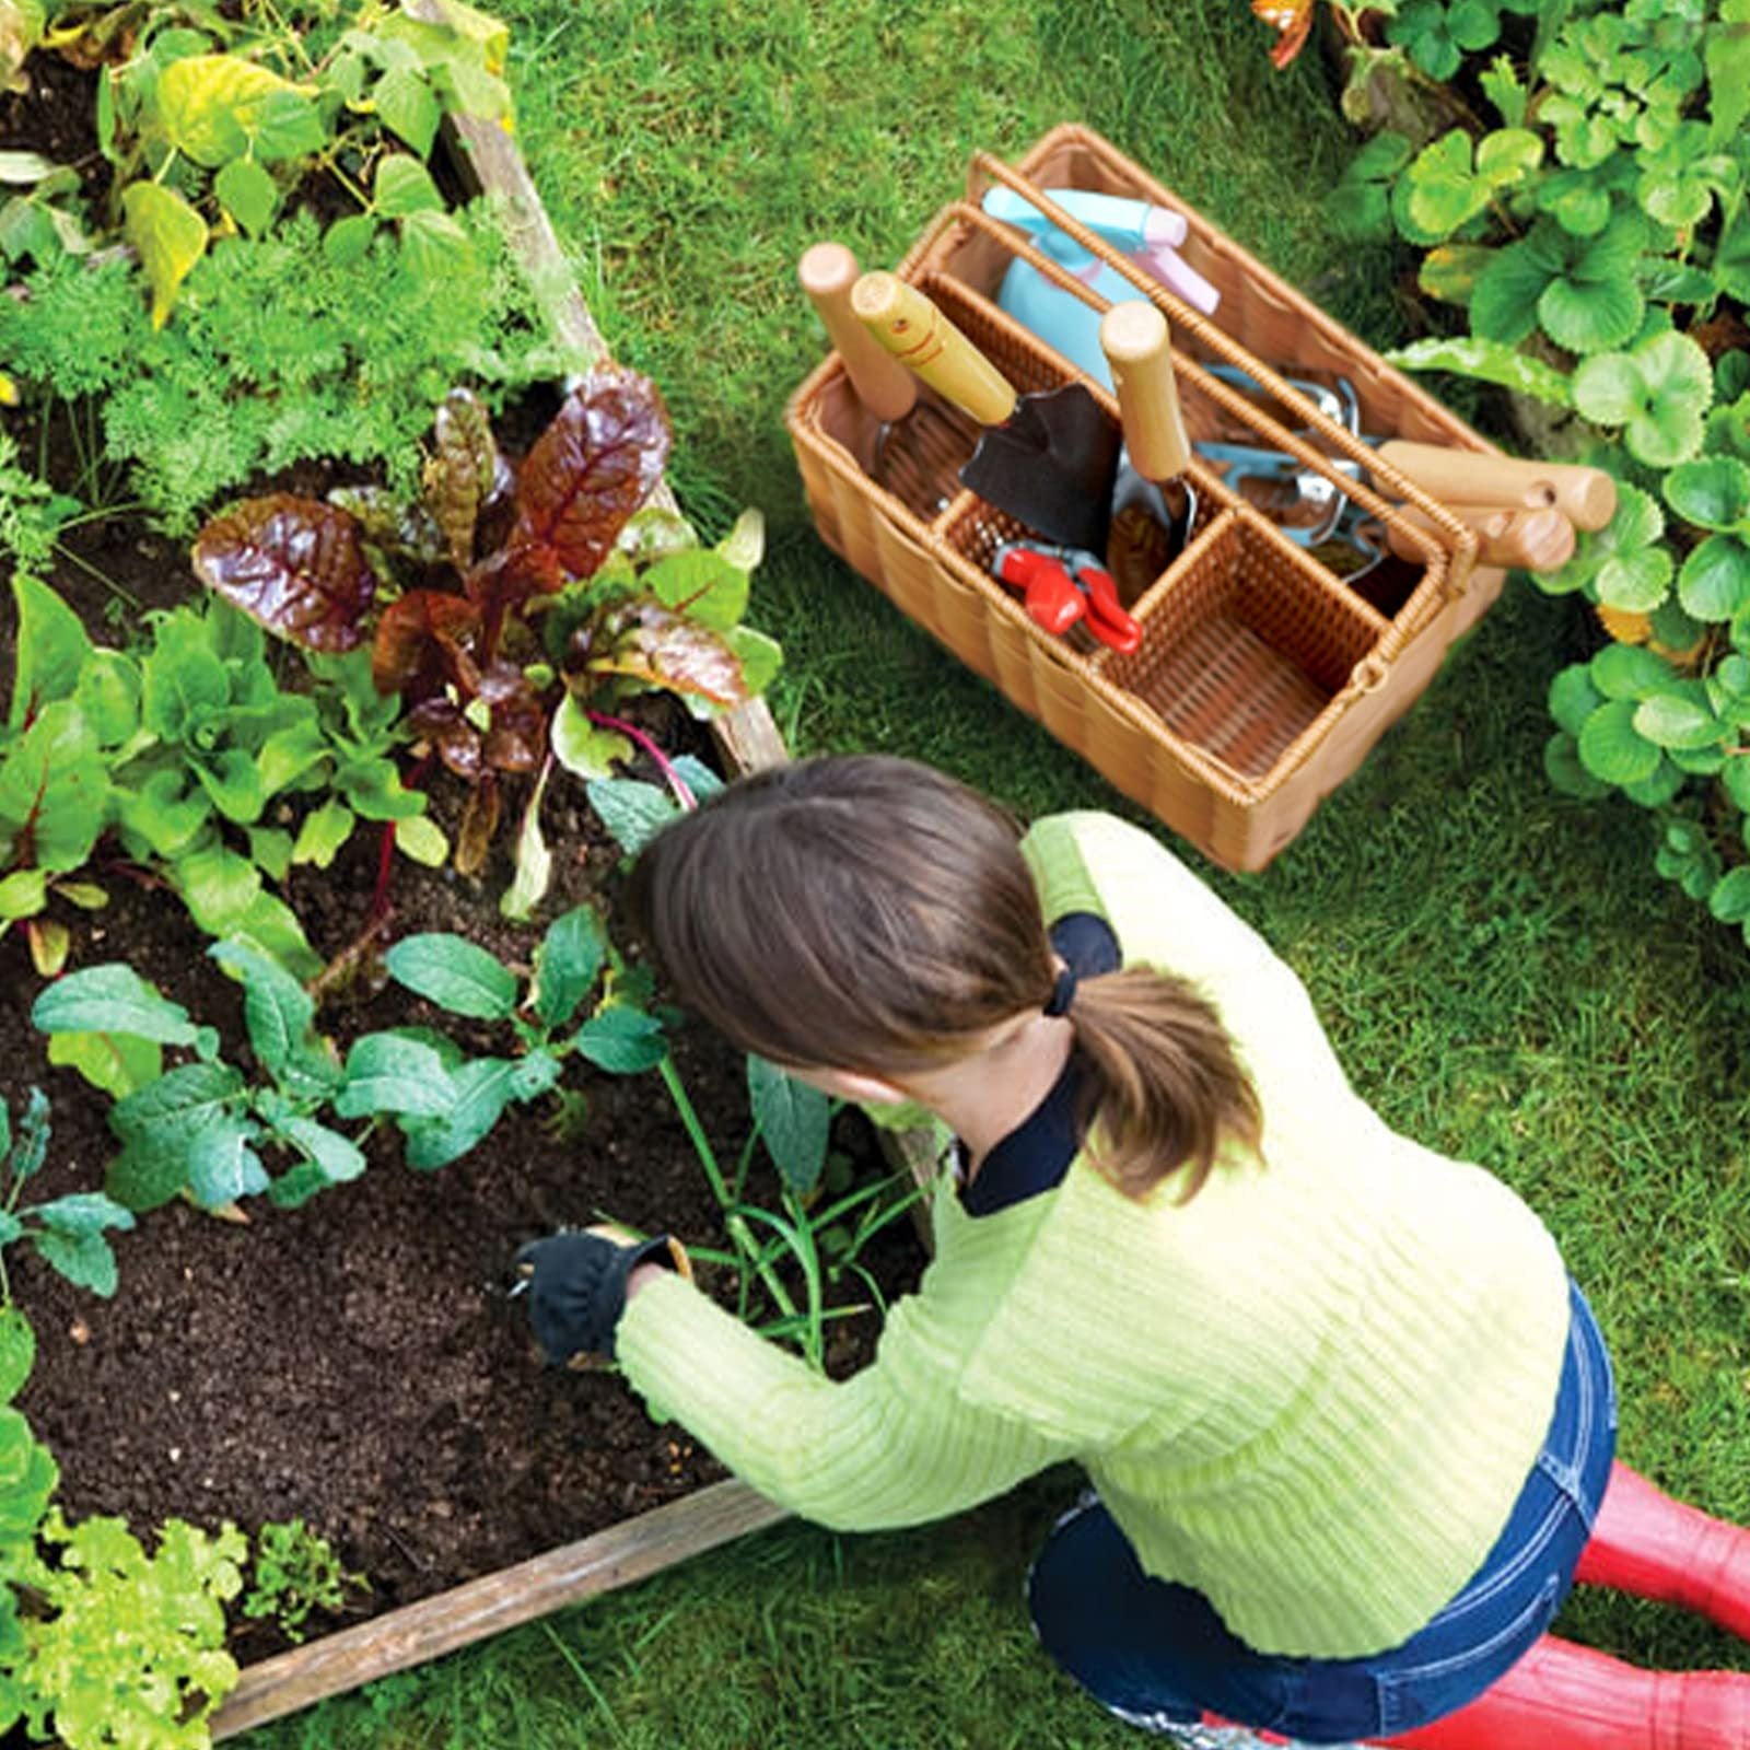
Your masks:
<svg viewBox="0 0 1750 1750"><path fill-rule="evenodd" d="M1099 345L1111 366L1124 418L1124 462L1111 500L1106 564L1125 602L1171 565L1190 539L1197 494L1185 480L1192 446L1172 380L1167 318L1150 303L1113 304Z"/></svg>

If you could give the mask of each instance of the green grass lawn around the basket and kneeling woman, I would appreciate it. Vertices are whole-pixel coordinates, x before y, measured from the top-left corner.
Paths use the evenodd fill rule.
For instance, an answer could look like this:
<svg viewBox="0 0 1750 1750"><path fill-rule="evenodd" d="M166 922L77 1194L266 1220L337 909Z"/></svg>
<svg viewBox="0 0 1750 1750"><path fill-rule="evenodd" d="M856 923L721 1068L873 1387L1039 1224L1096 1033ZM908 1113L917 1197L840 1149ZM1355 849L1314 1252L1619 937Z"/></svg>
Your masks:
<svg viewBox="0 0 1750 1750"><path fill-rule="evenodd" d="M770 520L754 618L788 651L791 746L931 760L1026 814L1134 816L816 539L780 424L824 350L794 261L831 236L891 264L971 150L1074 119L1390 345L1396 264L1320 219L1349 140L1316 52L1274 74L1239 0L499 10L525 150L611 346L668 396L682 500L714 528L742 504ZM1307 980L1384 1116L1554 1227L1615 1349L1622 1454L1750 1521L1750 982L1741 943L1652 873L1638 810L1544 780L1544 691L1578 649L1570 606L1516 581L1272 870L1202 872ZM782 1526L247 1743L1134 1743L1048 1668L1020 1601L1073 1486L891 1536ZM1563 1628L1750 1668L1624 1600L1578 1598Z"/></svg>

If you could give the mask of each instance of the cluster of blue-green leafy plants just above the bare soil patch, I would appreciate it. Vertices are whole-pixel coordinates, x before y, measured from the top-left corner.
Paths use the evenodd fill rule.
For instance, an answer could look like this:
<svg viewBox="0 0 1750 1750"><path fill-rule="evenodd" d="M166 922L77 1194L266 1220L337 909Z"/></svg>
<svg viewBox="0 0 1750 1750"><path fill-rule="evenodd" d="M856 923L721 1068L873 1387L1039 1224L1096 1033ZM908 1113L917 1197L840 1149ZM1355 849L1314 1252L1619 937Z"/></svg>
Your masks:
<svg viewBox="0 0 1750 1750"><path fill-rule="evenodd" d="M354 1040L341 1060L315 1027L313 999L282 966L242 942L215 943L212 956L243 984L254 1074L224 1059L212 1027L198 1027L122 962L68 973L32 1006L32 1024L51 1041L191 1054L110 1108L121 1153L105 1188L128 1209L178 1195L226 1209L261 1194L296 1208L364 1172L364 1144L385 1118L401 1130L408 1164L429 1172L472 1150L511 1104L550 1094L565 1059L630 1074L665 1050L662 1024L626 998L586 906L553 920L527 980L444 933L408 936L385 954L397 984L446 1013L504 1022L514 1040L508 1055L471 1055L434 1029L392 1027ZM362 1130L341 1129L355 1120ZM290 1157L290 1166L275 1178L264 1155Z"/></svg>

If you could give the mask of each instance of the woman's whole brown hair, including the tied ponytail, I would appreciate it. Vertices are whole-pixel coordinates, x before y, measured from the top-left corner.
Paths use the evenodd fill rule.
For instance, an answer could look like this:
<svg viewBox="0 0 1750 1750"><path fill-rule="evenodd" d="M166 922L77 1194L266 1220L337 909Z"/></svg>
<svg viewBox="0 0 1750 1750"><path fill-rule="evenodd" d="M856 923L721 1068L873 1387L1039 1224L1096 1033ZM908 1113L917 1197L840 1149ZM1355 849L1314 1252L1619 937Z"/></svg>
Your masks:
<svg viewBox="0 0 1750 1750"><path fill-rule="evenodd" d="M730 786L632 872L634 917L674 994L789 1068L901 1080L1052 998L1057 964L1018 828L929 766L805 760ZM1069 1008L1096 1164L1141 1197L1227 1138L1258 1146L1256 1092L1214 1010L1146 966L1083 978Z"/></svg>

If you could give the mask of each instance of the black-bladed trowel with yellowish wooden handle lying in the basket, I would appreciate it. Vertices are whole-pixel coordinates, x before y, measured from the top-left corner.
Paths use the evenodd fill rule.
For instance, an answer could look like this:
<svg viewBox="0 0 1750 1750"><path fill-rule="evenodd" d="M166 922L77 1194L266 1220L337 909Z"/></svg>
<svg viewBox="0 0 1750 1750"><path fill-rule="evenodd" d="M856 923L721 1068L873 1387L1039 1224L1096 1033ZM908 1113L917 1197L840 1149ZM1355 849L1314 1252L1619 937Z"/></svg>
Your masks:
<svg viewBox="0 0 1750 1750"><path fill-rule="evenodd" d="M961 481L1059 546L1101 553L1120 439L1083 383L1018 396L920 292L864 273L850 308L896 359L985 427Z"/></svg>

